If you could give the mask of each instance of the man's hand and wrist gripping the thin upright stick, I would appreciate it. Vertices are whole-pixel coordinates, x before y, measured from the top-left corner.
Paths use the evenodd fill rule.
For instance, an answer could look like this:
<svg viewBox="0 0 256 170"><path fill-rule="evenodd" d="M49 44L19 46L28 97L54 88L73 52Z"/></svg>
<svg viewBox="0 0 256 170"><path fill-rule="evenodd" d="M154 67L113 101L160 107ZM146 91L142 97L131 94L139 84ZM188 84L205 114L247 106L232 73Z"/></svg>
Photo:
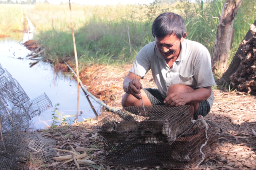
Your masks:
<svg viewBox="0 0 256 170"><path fill-rule="evenodd" d="M128 94L132 94L134 97L140 100L141 99L140 90L142 89L142 84L140 83L141 77L136 76L136 79L135 79L135 74L132 72L129 72L127 76L124 78L123 88L124 88L124 92Z"/></svg>

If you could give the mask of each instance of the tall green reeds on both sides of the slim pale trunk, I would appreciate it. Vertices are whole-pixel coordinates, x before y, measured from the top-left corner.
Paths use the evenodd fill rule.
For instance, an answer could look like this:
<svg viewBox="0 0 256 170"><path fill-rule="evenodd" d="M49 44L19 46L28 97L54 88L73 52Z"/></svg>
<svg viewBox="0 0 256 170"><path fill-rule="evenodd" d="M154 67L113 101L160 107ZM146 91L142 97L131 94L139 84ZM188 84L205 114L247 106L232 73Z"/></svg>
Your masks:
<svg viewBox="0 0 256 170"><path fill-rule="evenodd" d="M177 7L186 22L187 38L205 45L213 55L216 31L225 0L182 0ZM256 2L243 0L234 19L234 39L229 62L256 18Z"/></svg>

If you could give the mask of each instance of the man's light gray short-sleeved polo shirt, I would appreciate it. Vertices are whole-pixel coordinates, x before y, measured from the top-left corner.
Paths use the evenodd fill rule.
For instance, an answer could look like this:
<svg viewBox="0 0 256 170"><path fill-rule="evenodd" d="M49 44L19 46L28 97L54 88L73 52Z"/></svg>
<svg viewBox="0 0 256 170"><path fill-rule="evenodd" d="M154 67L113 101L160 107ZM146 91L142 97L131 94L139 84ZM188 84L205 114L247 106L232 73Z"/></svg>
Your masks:
<svg viewBox="0 0 256 170"><path fill-rule="evenodd" d="M181 43L180 55L171 68L160 51L156 49L155 41L145 45L139 51L134 61L134 68L141 78L144 78L151 69L154 82L163 98L166 98L167 89L172 84L184 84L194 89L216 84L212 75L209 51L202 44L187 39ZM132 67L130 72L134 73L134 68ZM208 98L210 107L213 101L212 91Z"/></svg>

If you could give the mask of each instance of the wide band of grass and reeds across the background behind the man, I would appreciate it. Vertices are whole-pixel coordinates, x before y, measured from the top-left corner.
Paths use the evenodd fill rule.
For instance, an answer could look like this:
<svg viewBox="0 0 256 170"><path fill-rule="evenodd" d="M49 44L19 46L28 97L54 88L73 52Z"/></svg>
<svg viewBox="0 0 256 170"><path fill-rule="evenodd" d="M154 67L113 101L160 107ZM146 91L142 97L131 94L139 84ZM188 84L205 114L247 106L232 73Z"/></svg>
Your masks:
<svg viewBox="0 0 256 170"><path fill-rule="evenodd" d="M204 44L213 54L223 4L224 0L156 0L148 5L115 6L72 4L71 16L78 60L83 64L131 63L127 27L135 58L141 47L154 41L151 24L162 12L180 14L186 22L187 39ZM53 63L74 59L68 4L12 5L10 8L18 8L16 11L20 12L23 10L36 26L34 39L46 49L47 59ZM255 8L256 2L243 0L234 22L234 43L230 59L256 18Z"/></svg>

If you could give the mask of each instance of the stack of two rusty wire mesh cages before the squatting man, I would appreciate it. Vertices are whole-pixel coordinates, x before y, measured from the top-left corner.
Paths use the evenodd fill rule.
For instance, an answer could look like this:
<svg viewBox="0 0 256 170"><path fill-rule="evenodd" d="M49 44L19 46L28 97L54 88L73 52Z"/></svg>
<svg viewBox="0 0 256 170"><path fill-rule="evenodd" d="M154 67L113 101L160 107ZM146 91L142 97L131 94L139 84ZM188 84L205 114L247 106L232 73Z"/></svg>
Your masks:
<svg viewBox="0 0 256 170"><path fill-rule="evenodd" d="M98 122L107 164L189 169L215 149L216 135L192 121L190 106L145 109L124 107Z"/></svg>

